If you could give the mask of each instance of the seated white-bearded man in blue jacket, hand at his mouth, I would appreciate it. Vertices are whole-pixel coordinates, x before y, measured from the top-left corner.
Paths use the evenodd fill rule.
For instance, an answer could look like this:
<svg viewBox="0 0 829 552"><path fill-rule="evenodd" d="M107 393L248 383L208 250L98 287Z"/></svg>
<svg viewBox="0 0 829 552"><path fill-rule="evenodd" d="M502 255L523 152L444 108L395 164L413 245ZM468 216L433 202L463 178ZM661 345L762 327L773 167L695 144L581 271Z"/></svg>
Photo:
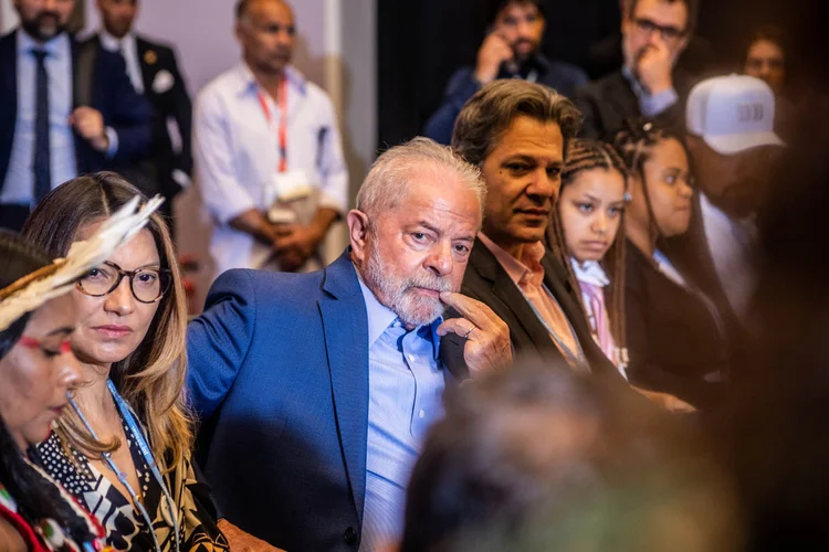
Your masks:
<svg viewBox="0 0 829 552"><path fill-rule="evenodd" d="M375 162L324 270L230 270L188 333L202 466L227 520L286 550L371 551L401 531L441 396L441 338L475 376L506 325L460 288L481 229L478 169L426 138ZM443 320L445 307L460 318Z"/></svg>

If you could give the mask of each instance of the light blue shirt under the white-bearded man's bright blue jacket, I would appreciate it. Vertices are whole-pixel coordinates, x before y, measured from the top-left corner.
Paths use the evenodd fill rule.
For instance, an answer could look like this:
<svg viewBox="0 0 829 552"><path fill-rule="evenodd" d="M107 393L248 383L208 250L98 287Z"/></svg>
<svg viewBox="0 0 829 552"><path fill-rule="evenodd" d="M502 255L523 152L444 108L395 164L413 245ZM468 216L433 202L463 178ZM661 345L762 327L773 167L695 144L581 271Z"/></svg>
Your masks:
<svg viewBox="0 0 829 552"><path fill-rule="evenodd" d="M360 552L402 534L406 487L431 424L443 414L442 319L411 331L360 280L368 312L368 447Z"/></svg>

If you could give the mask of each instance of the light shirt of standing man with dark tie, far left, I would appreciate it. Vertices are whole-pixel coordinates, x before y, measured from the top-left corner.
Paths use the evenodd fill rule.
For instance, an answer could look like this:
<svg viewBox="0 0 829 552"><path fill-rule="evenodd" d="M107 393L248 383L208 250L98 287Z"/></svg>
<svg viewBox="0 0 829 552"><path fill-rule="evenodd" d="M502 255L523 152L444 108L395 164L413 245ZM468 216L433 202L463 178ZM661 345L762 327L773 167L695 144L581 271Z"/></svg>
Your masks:
<svg viewBox="0 0 829 552"><path fill-rule="evenodd" d="M41 44L25 32L18 32L18 118L0 203L31 205L34 200L34 123L36 117L35 77L38 62L32 50L46 51L49 74L49 141L51 146L52 188L77 176L75 138L69 117L72 114L72 45L61 33Z"/></svg>

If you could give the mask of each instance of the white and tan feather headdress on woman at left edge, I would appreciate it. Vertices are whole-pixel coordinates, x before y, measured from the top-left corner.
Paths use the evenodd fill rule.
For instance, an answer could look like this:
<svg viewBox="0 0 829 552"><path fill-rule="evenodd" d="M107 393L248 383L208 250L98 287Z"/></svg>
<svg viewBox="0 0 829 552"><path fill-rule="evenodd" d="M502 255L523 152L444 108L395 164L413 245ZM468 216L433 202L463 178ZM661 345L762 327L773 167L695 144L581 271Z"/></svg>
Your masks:
<svg viewBox="0 0 829 552"><path fill-rule="evenodd" d="M0 331L48 300L69 293L77 278L106 261L119 245L146 226L164 198L156 195L140 209L139 203L140 197L136 195L109 216L92 237L74 242L64 258L0 289Z"/></svg>

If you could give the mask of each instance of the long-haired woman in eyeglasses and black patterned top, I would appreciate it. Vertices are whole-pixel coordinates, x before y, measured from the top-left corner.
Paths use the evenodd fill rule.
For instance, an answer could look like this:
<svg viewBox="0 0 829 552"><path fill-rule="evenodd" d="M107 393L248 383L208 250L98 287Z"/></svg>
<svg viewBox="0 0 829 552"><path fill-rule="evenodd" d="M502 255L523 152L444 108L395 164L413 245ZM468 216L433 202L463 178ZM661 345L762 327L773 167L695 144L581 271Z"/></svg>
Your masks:
<svg viewBox="0 0 829 552"><path fill-rule="evenodd" d="M61 257L139 192L114 173L53 190L23 235ZM146 229L71 293L81 378L38 460L104 524L116 550L227 550L190 461L187 308L166 223Z"/></svg>

